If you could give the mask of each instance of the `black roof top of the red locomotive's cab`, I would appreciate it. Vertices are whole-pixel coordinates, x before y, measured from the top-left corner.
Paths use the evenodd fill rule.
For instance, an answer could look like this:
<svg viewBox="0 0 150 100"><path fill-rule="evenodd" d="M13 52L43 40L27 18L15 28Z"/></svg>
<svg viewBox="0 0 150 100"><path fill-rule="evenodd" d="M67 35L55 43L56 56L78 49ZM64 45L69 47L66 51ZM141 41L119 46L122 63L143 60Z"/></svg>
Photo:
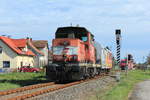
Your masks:
<svg viewBox="0 0 150 100"><path fill-rule="evenodd" d="M72 32L74 32L75 34L86 34L86 33L91 34L91 32L89 32L85 27L73 27L73 26L59 27L56 31L56 34L61 34L61 33L68 33L69 34Z"/></svg>

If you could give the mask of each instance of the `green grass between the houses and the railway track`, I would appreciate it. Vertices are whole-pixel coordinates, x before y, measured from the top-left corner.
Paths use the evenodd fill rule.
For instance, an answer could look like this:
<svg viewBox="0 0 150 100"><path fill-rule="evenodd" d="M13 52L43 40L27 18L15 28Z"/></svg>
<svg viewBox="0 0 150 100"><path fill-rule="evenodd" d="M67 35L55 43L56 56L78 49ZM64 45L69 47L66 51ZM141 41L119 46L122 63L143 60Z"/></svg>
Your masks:
<svg viewBox="0 0 150 100"><path fill-rule="evenodd" d="M0 91L47 82L45 73L0 74Z"/></svg>

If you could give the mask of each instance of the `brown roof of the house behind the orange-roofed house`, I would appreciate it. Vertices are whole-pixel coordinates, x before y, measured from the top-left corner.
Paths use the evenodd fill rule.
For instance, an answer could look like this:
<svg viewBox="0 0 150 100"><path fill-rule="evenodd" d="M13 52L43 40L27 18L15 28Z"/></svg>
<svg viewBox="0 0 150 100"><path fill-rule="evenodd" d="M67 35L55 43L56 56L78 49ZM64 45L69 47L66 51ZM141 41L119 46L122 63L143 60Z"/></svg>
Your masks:
<svg viewBox="0 0 150 100"><path fill-rule="evenodd" d="M45 48L46 46L48 46L48 41L46 41L46 40L33 40L32 44L36 48Z"/></svg>

